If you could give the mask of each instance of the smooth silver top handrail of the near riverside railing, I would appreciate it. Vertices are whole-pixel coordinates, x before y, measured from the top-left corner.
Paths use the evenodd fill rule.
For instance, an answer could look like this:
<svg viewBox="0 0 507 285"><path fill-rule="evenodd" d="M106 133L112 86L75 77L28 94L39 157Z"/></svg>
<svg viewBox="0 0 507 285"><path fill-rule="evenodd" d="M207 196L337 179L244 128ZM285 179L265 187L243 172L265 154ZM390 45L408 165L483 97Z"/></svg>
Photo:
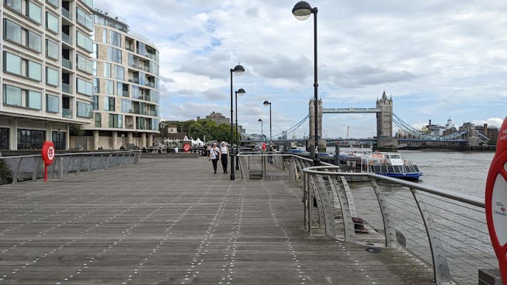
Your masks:
<svg viewBox="0 0 507 285"><path fill-rule="evenodd" d="M335 167L337 167L337 166L335 166ZM466 195L466 194L461 194L461 193L453 192L453 191L449 191L449 190L445 190L445 189L441 189L441 188L438 188L438 187L421 185L421 184L417 184L417 183L414 183L414 182L405 181L405 180L401 180L401 179L396 179L396 178L392 178L392 177L387 177L387 176L379 175L379 174L375 174L375 173L364 173L364 172L363 173L361 173L361 172L330 172L330 171L316 171L316 170L314 170L314 169L319 169L319 168L329 168L329 167L312 166L312 167L306 167L305 169L303 169L303 171L306 172L306 173L319 174L319 175L368 176L368 177L372 177L372 178L377 179L377 180L383 180L383 181L386 181L386 182L391 182L393 184L399 184L401 186L406 186L406 187L409 187L409 188L412 188L412 189L421 190L423 192L427 192L427 193L431 193L431 194L438 195L438 196L441 196L441 197L453 199L453 200L456 200L456 201L459 201L459 202L463 202L463 203L466 203L466 204L469 204L469 205L474 205L474 206L478 206L478 207L481 207L481 208L485 208L486 207L484 199L481 199L481 198L478 198L478 197L474 197L474 196L470 196L470 195Z"/></svg>

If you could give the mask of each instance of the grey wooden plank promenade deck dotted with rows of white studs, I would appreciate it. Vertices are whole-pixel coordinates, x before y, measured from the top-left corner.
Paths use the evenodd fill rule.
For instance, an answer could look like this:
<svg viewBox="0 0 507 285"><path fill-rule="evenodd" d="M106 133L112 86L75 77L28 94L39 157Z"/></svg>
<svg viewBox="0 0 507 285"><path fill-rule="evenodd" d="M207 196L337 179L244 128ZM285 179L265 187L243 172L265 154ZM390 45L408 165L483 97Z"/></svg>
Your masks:
<svg viewBox="0 0 507 285"><path fill-rule="evenodd" d="M431 284L403 250L308 236L297 186L210 170L141 157L0 186L0 285Z"/></svg>

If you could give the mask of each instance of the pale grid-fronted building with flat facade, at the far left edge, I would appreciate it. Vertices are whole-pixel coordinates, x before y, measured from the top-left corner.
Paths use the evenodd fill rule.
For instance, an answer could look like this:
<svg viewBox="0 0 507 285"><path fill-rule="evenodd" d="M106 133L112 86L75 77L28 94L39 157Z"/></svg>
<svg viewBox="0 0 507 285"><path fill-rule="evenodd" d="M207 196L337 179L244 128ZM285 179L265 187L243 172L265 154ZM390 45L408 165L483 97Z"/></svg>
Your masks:
<svg viewBox="0 0 507 285"><path fill-rule="evenodd" d="M4 0L0 149L69 148L92 122L92 0Z"/></svg>

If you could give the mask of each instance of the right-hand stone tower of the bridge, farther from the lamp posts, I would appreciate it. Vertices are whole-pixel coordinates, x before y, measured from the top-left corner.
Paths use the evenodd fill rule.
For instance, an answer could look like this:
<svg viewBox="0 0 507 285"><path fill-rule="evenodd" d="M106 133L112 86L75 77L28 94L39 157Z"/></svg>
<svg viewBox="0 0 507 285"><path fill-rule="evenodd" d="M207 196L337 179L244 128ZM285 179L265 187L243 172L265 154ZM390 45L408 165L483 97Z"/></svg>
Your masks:
<svg viewBox="0 0 507 285"><path fill-rule="evenodd" d="M392 136L392 96L387 99L387 95L382 94L382 98L377 99L377 150L396 151L397 139Z"/></svg>

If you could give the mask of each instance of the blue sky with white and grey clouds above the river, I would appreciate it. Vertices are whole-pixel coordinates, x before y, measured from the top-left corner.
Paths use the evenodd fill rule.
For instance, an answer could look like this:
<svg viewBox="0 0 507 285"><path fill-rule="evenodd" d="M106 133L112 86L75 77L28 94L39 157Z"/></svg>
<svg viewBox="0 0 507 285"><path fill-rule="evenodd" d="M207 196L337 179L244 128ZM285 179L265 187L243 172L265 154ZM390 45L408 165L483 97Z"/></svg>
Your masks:
<svg viewBox="0 0 507 285"><path fill-rule="evenodd" d="M161 117L230 118L230 69L238 123L273 135L308 115L313 97L313 18L295 0L95 0L127 19L160 51ZM142 4L141 4L142 3ZM451 118L500 126L507 115L507 2L319 0L318 96L323 108L373 108L385 90L394 114L421 128ZM368 137L374 114L325 114L325 137ZM394 129L394 132L396 129ZM294 135L308 135L308 123Z"/></svg>

